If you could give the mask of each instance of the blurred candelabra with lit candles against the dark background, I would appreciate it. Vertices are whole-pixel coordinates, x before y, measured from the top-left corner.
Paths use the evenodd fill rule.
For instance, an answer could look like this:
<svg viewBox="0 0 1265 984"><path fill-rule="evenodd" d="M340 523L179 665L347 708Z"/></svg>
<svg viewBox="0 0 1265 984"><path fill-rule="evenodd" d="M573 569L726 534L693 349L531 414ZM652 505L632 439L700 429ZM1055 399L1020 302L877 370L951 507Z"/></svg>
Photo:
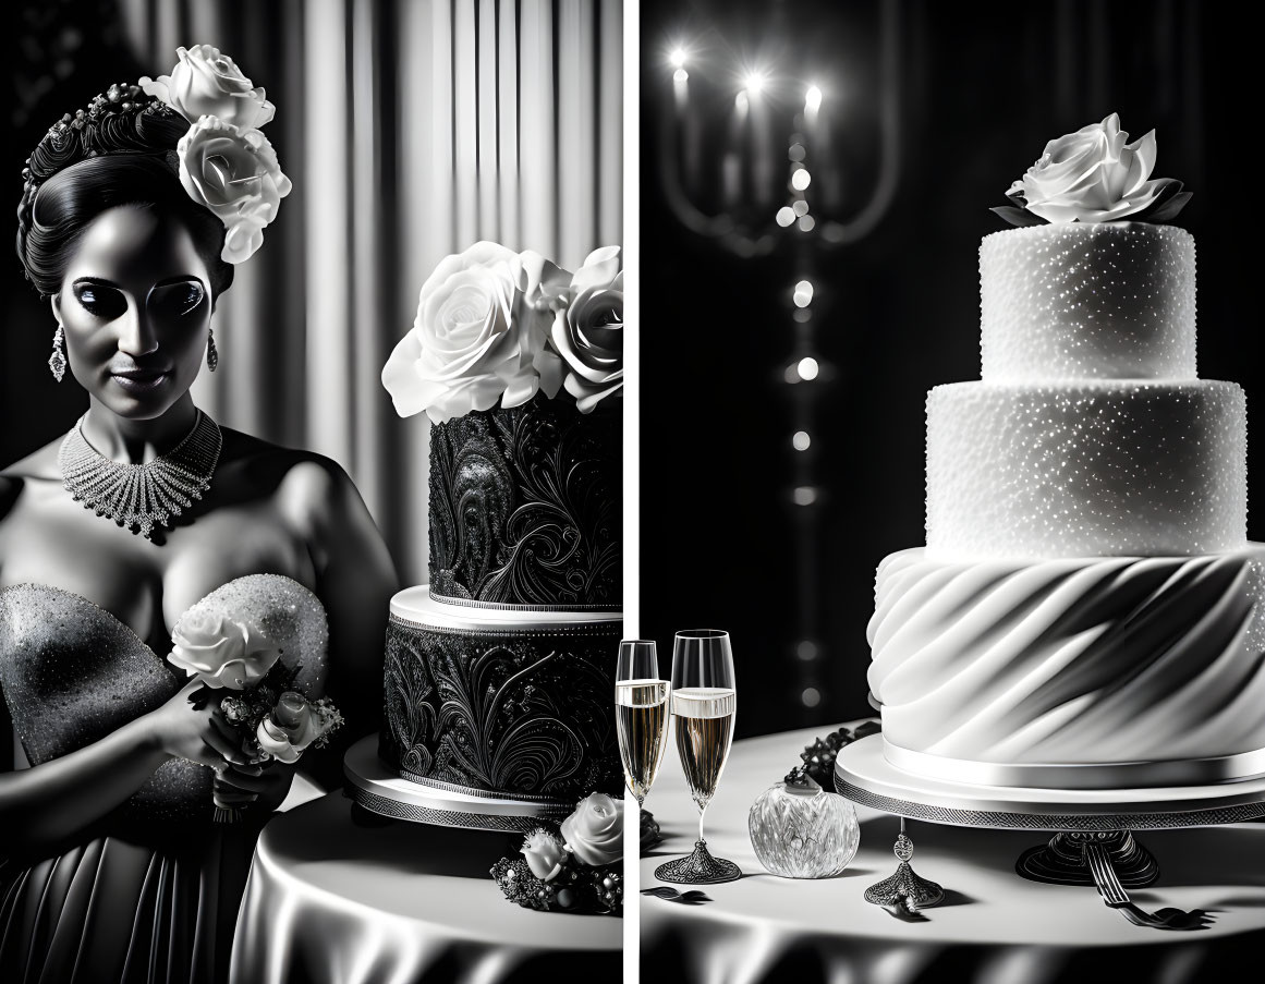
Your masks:
<svg viewBox="0 0 1265 984"><path fill-rule="evenodd" d="M841 100L831 95L827 78L732 58L717 65L682 40L668 53L660 86L658 172L677 221L740 259L782 250L792 269L792 286L784 291L792 340L778 379L791 406L787 501L796 531L797 698L810 711L826 697L817 550L829 489L813 467L821 445L817 420L824 392L848 368L827 363L817 347L817 326L836 293L834 285L818 282L817 271L825 252L865 239L894 197L901 168L899 34L898 0L879 0L877 178L860 201L844 194L839 151L848 133Z"/></svg>

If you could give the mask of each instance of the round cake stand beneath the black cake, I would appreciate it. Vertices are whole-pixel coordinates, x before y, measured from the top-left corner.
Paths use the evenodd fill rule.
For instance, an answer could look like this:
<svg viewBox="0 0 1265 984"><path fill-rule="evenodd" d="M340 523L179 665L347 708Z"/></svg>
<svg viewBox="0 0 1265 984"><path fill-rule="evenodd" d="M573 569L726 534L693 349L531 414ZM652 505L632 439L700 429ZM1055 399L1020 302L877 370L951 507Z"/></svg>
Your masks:
<svg viewBox="0 0 1265 984"><path fill-rule="evenodd" d="M402 779L378 758L377 735L347 750L343 773L355 803L414 823L529 833L541 822L562 822L576 808L574 803L501 798Z"/></svg>

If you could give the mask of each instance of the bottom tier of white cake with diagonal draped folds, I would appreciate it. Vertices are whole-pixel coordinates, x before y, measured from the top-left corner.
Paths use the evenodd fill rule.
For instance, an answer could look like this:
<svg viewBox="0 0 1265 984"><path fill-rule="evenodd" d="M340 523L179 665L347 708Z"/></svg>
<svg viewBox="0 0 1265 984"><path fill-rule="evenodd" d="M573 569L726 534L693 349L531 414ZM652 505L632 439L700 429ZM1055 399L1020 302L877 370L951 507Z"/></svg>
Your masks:
<svg viewBox="0 0 1265 984"><path fill-rule="evenodd" d="M869 686L887 758L985 785L1265 773L1265 546L1202 557L885 558Z"/></svg>

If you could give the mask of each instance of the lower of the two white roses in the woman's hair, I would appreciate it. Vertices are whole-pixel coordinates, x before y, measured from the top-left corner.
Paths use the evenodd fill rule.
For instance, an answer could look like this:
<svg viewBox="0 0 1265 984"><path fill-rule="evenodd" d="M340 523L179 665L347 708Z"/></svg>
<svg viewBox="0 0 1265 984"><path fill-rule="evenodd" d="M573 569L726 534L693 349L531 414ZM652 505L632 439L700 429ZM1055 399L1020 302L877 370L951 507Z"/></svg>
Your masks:
<svg viewBox="0 0 1265 984"><path fill-rule="evenodd" d="M259 130L202 116L176 145L180 183L224 223L226 263L240 263L263 243L264 228L290 194L277 152Z"/></svg>

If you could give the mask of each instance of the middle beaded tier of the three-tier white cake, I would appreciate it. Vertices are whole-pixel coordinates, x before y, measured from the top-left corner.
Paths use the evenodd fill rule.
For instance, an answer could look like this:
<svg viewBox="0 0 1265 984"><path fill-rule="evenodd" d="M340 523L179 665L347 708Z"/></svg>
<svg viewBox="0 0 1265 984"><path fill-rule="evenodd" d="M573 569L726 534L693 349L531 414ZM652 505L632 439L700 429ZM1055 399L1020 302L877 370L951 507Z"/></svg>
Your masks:
<svg viewBox="0 0 1265 984"><path fill-rule="evenodd" d="M927 550L1202 554L1246 541L1235 383L951 383L927 397Z"/></svg>

